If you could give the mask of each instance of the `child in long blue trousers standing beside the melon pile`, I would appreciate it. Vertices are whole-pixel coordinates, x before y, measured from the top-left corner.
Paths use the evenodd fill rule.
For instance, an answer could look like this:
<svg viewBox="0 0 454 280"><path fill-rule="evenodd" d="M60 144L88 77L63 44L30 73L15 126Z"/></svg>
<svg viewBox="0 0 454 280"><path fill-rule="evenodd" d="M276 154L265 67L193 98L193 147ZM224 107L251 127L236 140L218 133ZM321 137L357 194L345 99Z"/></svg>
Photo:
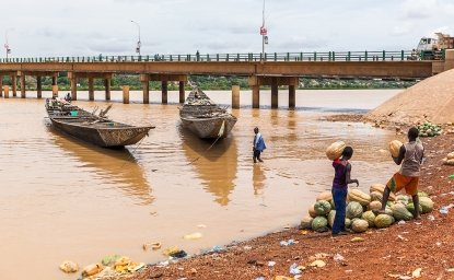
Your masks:
<svg viewBox="0 0 454 280"><path fill-rule="evenodd" d="M333 167L335 170L333 179L333 200L336 208L336 215L333 223L333 236L347 234L346 226L346 208L347 208L347 192L348 184L357 183L357 187L360 185L358 179L350 178L351 164L348 162L353 155L353 149L347 145L342 151L340 159L333 161Z"/></svg>

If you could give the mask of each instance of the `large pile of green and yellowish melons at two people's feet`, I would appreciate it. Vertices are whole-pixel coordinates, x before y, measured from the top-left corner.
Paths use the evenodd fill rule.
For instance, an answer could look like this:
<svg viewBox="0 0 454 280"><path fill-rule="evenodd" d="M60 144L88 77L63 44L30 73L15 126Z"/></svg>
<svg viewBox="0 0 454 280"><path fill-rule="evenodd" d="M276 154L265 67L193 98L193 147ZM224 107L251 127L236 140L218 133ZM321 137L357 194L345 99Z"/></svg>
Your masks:
<svg viewBox="0 0 454 280"><path fill-rule="evenodd" d="M375 214L382 208L382 198L385 186L374 184L370 194L359 189L349 189L347 196L346 228L356 233L365 232L369 228L388 228L398 221L409 221L414 218L415 206L410 196L389 195L385 213ZM419 212L429 213L433 210L433 201L422 191L418 192ZM311 229L317 232L328 231L333 226L336 210L330 191L317 196L316 202L309 209L309 215L301 221L301 229Z"/></svg>

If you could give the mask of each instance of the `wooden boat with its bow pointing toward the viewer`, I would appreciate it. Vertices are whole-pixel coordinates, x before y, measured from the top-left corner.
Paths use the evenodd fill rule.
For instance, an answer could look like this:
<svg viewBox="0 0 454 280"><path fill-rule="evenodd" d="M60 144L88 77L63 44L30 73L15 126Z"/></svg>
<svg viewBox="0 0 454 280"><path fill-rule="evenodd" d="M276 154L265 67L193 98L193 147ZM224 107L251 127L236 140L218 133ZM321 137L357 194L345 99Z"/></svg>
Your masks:
<svg viewBox="0 0 454 280"><path fill-rule="evenodd" d="M201 90L195 88L179 109L183 127L199 138L225 138L236 117L217 105Z"/></svg>

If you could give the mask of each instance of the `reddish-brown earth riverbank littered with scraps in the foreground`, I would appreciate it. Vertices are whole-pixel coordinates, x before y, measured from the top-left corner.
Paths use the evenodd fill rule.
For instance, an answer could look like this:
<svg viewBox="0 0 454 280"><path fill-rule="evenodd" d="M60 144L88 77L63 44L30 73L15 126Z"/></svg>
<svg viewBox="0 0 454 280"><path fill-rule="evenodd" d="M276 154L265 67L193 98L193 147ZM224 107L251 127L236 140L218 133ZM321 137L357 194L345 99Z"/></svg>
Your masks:
<svg viewBox="0 0 454 280"><path fill-rule="evenodd" d="M454 279L454 211L447 215L439 212L442 206L454 202L454 195L449 194L454 189L454 179L447 178L454 174L454 167L441 165L441 159L453 150L454 137L426 139L424 145L429 159L420 189L432 197L435 207L418 222L336 238L314 232L303 234L298 229L283 230L232 245L222 254L196 256L165 267L150 266L120 279L275 279L291 277L289 269L294 262L306 267L301 279L399 279L418 268L422 279ZM305 211L301 209L302 217ZM353 237L364 241L353 243ZM280 245L291 238L296 244ZM326 254L325 267L309 267L316 254ZM335 261L336 254L344 261ZM276 265L268 266L269 261Z"/></svg>

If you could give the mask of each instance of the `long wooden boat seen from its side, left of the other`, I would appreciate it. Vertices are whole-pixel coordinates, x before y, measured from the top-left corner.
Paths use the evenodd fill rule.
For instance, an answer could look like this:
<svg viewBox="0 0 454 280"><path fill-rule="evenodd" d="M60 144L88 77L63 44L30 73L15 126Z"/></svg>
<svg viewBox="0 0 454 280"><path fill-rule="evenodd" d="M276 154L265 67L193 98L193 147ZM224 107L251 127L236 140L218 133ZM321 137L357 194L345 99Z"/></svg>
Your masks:
<svg viewBox="0 0 454 280"><path fill-rule="evenodd" d="M153 126L137 127L86 112L65 101L46 100L46 110L53 125L75 138L104 148L120 148L139 142Z"/></svg>

